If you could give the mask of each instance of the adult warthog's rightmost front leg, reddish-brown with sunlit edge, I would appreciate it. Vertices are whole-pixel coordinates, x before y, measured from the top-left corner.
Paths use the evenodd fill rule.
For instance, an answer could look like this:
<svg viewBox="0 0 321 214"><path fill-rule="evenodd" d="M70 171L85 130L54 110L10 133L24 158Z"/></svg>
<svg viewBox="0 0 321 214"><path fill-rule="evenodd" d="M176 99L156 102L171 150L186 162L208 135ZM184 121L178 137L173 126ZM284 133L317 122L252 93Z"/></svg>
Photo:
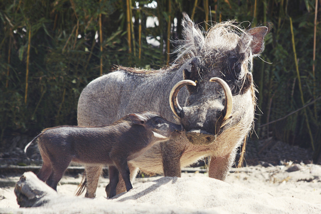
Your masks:
<svg viewBox="0 0 321 214"><path fill-rule="evenodd" d="M237 148L225 156L212 157L208 168L208 176L225 181L227 175L230 173L230 167L234 162L236 150Z"/></svg>

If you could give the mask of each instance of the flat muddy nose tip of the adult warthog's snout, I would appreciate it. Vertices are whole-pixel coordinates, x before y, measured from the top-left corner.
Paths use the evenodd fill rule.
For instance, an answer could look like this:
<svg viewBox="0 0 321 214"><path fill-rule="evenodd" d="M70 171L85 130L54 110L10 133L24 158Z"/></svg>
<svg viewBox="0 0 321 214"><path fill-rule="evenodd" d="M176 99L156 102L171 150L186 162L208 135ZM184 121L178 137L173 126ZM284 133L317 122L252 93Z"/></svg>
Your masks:
<svg viewBox="0 0 321 214"><path fill-rule="evenodd" d="M185 133L188 141L192 144L208 145L215 141L216 136L204 130L192 129Z"/></svg>

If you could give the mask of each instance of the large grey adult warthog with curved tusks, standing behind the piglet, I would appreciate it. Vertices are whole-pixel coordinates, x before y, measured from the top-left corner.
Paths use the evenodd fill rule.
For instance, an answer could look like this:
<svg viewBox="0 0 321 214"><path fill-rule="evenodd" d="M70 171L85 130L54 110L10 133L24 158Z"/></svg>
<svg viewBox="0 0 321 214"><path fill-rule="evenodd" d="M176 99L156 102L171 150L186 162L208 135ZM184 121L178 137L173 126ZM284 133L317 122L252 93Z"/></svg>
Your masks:
<svg viewBox="0 0 321 214"><path fill-rule="evenodd" d="M224 181L251 129L256 98L249 70L253 57L264 49L268 28L244 30L228 21L203 34L187 14L182 26L184 39L174 65L160 70L119 66L89 83L79 98L81 126L109 124L141 111L160 113L184 126L185 134L157 143L132 160L131 179L138 169L179 177L181 167L211 156L209 176ZM102 165L85 165L86 197L95 196L101 171ZM124 182L119 181L117 193L123 191Z"/></svg>

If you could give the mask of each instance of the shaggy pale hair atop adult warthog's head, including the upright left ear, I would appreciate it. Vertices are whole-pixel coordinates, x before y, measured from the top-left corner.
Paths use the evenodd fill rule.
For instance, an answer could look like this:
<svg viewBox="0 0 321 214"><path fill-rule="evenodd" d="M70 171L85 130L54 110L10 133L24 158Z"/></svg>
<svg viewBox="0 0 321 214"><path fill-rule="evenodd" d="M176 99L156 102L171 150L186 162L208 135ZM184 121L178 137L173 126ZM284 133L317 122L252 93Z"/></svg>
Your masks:
<svg viewBox="0 0 321 214"><path fill-rule="evenodd" d="M246 30L236 25L236 20L215 23L207 32L202 30L190 20L186 13L183 13L182 36L184 39L172 41L178 43L178 47L173 52L177 54L174 63L194 56L213 56L213 53L220 56L223 51L233 50L239 47L240 53L247 53L246 60L249 70L252 70L252 55L250 44L252 35ZM246 71L247 72L247 71Z"/></svg>

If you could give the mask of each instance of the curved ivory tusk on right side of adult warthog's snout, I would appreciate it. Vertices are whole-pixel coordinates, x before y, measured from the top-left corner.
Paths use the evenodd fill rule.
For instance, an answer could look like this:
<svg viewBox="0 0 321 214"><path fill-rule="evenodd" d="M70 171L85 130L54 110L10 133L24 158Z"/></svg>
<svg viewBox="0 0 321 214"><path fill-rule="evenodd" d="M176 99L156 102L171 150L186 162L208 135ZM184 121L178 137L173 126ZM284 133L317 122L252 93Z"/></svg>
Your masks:
<svg viewBox="0 0 321 214"><path fill-rule="evenodd" d="M222 120L222 125L221 127L223 127L225 124L227 124L233 116L235 116L236 113L234 113L233 115L231 115L232 113L232 107L233 107L233 100L232 100L232 92L230 90L230 87L228 86L228 84L222 80L221 78L218 77L213 77L210 79L210 82L217 82L220 84L220 86L223 88L224 90L224 94L225 94L225 106L223 109L223 112L225 112L225 115L223 117Z"/></svg>

